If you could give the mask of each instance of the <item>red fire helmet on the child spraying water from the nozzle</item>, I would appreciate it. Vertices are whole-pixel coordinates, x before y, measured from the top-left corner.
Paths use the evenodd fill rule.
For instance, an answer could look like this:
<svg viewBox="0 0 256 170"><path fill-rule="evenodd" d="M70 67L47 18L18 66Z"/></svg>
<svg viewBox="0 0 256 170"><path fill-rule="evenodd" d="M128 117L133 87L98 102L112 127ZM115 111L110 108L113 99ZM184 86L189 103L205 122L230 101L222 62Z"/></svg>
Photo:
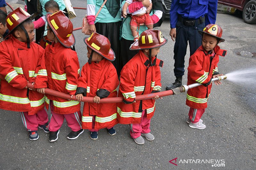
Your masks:
<svg viewBox="0 0 256 170"><path fill-rule="evenodd" d="M225 40L221 38L222 36L222 29L217 24L208 24L205 26L203 31L198 30L200 34L203 35L203 33L207 33L209 35L212 35L213 37L216 37L217 39L220 39L220 42L224 42Z"/></svg>

